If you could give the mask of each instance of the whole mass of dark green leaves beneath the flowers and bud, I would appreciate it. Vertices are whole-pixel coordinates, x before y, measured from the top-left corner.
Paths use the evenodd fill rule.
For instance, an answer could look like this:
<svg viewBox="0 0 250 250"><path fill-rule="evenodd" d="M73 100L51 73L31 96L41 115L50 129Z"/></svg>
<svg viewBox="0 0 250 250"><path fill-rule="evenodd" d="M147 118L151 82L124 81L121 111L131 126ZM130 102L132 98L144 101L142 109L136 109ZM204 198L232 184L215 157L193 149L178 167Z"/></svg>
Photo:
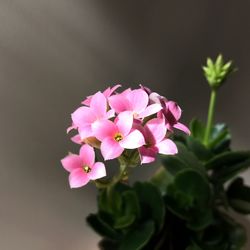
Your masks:
<svg viewBox="0 0 250 250"><path fill-rule="evenodd" d="M250 213L250 187L233 179L250 166L250 152L230 149L223 124L212 128L207 146L203 123L193 120L190 128L191 136L176 136L178 154L162 156L150 181L99 191L98 212L87 222L103 237L101 249L242 249L245 230L228 214Z"/></svg>

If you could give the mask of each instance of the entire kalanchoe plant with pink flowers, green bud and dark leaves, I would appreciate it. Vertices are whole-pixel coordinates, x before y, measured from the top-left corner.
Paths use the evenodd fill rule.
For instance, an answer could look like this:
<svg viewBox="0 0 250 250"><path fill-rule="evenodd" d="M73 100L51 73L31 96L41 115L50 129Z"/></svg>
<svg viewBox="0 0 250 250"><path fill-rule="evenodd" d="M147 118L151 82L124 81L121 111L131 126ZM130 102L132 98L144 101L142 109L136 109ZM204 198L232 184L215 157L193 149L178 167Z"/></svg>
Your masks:
<svg viewBox="0 0 250 250"><path fill-rule="evenodd" d="M250 213L250 187L238 174L250 166L249 151L233 151L225 124L214 124L218 88L233 71L221 55L208 59L211 87L207 123L194 119L190 130L179 122L173 101L141 86L117 93L119 85L85 99L72 114L81 145L79 155L62 160L72 188L92 180L98 187L98 211L88 224L103 237L104 250L241 250L245 229L231 211ZM175 129L184 133L175 133ZM191 135L190 135L191 131ZM118 174L106 176L104 161L117 159ZM162 166L150 180L129 183L132 167ZM107 163L106 163L107 165ZM104 178L103 178L104 177Z"/></svg>

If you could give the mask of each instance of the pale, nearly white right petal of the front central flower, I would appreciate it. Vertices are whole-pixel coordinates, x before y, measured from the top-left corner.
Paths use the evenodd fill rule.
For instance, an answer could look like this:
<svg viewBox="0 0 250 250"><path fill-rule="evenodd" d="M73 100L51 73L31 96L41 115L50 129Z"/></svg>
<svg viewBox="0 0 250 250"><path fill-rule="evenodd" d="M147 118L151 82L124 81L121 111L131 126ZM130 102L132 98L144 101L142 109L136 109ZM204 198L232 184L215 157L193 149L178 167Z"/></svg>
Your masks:
<svg viewBox="0 0 250 250"><path fill-rule="evenodd" d="M145 145L145 139L142 133L139 130L135 129L125 138L123 138L119 143L123 148L134 149Z"/></svg>

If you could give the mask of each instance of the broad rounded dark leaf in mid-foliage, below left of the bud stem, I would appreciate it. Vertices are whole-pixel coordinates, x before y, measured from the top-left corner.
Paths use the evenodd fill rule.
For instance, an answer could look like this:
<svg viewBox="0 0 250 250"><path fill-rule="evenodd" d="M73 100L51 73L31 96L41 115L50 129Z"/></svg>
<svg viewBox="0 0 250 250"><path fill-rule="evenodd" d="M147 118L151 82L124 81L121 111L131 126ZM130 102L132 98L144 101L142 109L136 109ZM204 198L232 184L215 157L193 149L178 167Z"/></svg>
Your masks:
<svg viewBox="0 0 250 250"><path fill-rule="evenodd" d="M194 169L179 172L167 189L166 205L188 222L192 230L201 230L212 221L211 189L208 181Z"/></svg>

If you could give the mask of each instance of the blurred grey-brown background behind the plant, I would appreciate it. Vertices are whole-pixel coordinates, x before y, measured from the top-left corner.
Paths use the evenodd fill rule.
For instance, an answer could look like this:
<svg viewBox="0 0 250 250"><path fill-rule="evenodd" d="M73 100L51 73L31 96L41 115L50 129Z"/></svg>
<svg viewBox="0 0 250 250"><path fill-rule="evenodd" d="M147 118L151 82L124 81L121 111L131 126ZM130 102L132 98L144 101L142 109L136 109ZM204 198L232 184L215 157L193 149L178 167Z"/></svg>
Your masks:
<svg viewBox="0 0 250 250"><path fill-rule="evenodd" d="M250 148L249 13L247 0L0 0L0 249L97 249L95 187L70 190L60 159L75 149L70 113L99 89L142 83L178 101L183 121L204 119L201 65L222 52L239 71L216 119Z"/></svg>

